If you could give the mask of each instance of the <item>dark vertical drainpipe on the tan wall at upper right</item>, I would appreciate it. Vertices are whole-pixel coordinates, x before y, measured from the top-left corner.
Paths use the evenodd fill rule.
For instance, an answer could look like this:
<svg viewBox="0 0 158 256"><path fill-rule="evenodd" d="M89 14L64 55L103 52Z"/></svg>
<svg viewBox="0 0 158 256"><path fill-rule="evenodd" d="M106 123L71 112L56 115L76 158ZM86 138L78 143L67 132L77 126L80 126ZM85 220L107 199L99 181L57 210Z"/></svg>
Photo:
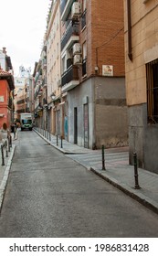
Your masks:
<svg viewBox="0 0 158 256"><path fill-rule="evenodd" d="M132 61L132 13L131 13L131 0L127 0L127 21L128 21L128 57Z"/></svg>

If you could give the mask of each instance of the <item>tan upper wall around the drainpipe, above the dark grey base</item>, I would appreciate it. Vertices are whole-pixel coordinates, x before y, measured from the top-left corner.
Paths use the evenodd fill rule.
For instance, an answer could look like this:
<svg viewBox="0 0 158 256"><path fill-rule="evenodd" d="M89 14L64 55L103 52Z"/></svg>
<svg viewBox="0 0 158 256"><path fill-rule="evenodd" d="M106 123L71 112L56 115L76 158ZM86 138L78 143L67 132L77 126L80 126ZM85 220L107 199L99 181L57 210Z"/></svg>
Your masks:
<svg viewBox="0 0 158 256"><path fill-rule="evenodd" d="M131 1L132 61L128 58L127 1L124 1L126 98L129 106L142 104L146 98L145 63L158 58L158 3Z"/></svg>

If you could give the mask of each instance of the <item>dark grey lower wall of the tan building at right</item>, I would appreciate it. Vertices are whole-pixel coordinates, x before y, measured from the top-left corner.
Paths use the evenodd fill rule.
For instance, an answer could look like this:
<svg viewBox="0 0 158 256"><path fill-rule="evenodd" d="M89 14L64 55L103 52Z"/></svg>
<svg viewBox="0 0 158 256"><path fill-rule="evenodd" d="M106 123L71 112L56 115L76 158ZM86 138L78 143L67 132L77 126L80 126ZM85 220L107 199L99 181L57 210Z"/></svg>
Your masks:
<svg viewBox="0 0 158 256"><path fill-rule="evenodd" d="M138 165L158 174L158 125L147 123L146 104L131 106L129 112L130 164L137 153Z"/></svg>

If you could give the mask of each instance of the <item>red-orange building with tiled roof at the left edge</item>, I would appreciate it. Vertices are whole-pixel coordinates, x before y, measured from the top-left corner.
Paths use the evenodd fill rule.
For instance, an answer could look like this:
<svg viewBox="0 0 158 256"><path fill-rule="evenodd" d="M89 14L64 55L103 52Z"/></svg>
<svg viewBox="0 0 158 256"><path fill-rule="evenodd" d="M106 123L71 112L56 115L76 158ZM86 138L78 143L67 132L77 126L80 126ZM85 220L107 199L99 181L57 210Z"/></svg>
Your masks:
<svg viewBox="0 0 158 256"><path fill-rule="evenodd" d="M7 123L10 127L13 118L13 90L14 78L9 72L0 69L0 127Z"/></svg>

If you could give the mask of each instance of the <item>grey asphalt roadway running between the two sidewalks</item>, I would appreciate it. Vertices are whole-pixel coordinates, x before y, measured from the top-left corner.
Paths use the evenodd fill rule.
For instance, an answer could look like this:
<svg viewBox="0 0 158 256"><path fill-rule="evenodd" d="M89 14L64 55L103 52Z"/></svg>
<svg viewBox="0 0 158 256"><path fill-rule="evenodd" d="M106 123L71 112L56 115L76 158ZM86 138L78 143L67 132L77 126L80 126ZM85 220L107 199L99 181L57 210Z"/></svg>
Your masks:
<svg viewBox="0 0 158 256"><path fill-rule="evenodd" d="M158 218L35 132L19 132L1 238L157 237Z"/></svg>

